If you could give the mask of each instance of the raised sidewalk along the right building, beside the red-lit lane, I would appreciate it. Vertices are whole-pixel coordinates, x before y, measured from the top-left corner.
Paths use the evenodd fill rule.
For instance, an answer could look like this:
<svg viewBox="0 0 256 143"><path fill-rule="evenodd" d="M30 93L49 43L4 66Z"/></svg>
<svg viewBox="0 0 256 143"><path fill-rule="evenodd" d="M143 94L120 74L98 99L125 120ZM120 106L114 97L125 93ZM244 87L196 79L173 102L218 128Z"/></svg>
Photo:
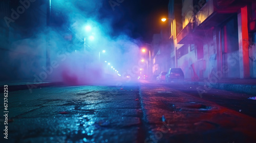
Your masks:
<svg viewBox="0 0 256 143"><path fill-rule="evenodd" d="M183 84L198 85L203 90L217 88L240 93L256 94L256 79L205 79L199 81L185 80Z"/></svg>

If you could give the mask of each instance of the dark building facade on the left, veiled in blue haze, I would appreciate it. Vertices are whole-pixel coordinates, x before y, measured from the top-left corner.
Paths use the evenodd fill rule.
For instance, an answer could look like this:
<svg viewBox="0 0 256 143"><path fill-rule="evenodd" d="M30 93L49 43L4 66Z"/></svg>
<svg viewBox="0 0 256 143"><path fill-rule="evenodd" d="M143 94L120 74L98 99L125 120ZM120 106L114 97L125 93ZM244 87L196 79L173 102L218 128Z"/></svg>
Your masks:
<svg viewBox="0 0 256 143"><path fill-rule="evenodd" d="M38 41L46 26L44 1L0 2L0 81L33 80L45 62L45 46Z"/></svg>

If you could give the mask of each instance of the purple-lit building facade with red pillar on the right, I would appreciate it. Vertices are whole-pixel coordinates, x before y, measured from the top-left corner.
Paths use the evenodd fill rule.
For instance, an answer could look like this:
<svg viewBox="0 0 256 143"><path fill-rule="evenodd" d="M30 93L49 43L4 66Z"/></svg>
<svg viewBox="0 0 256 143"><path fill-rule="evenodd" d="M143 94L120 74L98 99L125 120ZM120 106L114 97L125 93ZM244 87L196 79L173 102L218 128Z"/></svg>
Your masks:
<svg viewBox="0 0 256 143"><path fill-rule="evenodd" d="M255 1L170 0L168 7L170 63L186 79L256 78Z"/></svg>

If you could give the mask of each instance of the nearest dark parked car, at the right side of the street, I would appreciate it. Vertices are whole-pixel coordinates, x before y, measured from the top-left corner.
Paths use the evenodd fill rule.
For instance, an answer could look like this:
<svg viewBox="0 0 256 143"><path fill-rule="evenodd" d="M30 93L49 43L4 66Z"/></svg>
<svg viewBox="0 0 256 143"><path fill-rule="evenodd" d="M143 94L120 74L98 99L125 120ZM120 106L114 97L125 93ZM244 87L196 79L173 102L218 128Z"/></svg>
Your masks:
<svg viewBox="0 0 256 143"><path fill-rule="evenodd" d="M184 73L181 68L170 68L165 76L166 82L173 80L184 80Z"/></svg>

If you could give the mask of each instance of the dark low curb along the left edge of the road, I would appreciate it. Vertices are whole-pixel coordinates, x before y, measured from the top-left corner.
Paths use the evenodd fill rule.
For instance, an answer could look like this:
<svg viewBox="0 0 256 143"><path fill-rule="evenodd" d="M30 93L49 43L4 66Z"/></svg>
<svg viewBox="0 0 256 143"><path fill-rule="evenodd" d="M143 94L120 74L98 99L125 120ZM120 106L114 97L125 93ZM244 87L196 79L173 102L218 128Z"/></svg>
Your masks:
<svg viewBox="0 0 256 143"><path fill-rule="evenodd" d="M8 85L8 84L7 84ZM37 84L22 84L22 85L8 85L8 91L18 91L18 90L30 90L32 89L41 88L41 87L49 87L49 86L61 86L63 85L62 82L47 82L47 83L37 83ZM1 89L4 89L4 85L0 86ZM1 92L4 92L2 90Z"/></svg>

